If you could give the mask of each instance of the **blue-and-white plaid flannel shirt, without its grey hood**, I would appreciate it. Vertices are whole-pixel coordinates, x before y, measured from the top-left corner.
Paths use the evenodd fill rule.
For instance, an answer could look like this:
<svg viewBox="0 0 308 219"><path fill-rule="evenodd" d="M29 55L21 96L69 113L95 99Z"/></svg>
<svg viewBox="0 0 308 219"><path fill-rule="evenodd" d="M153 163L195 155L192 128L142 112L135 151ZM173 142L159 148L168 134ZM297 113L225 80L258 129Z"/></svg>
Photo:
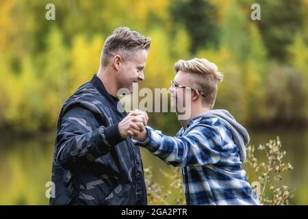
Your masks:
<svg viewBox="0 0 308 219"><path fill-rule="evenodd" d="M259 205L231 133L219 118L195 118L176 137L146 126L148 137L135 144L166 164L181 166L188 205Z"/></svg>

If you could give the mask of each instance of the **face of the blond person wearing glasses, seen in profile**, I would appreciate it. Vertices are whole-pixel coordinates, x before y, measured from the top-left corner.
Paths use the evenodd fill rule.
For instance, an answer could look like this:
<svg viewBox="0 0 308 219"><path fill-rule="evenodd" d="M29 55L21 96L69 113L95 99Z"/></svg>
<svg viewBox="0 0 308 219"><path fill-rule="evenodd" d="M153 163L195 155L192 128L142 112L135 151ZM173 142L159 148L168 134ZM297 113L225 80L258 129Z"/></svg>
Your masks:
<svg viewBox="0 0 308 219"><path fill-rule="evenodd" d="M175 79L173 79L174 83L179 86L192 87L191 81L189 77L189 73L185 73L181 70L175 75ZM185 88L170 88L171 93L171 105L173 109L176 109L177 113L183 113L183 108L190 109L191 107L191 90ZM188 103L186 103L188 101Z"/></svg>

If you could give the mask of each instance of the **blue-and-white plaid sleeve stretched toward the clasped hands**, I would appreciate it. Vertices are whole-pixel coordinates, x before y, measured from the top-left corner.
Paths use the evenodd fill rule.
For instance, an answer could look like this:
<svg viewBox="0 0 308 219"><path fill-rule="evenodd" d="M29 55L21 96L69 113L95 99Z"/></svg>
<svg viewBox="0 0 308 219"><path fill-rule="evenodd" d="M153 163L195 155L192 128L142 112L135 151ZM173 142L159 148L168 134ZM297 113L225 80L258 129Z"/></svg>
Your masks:
<svg viewBox="0 0 308 219"><path fill-rule="evenodd" d="M221 157L222 139L216 127L199 123L185 133L185 136L165 136L149 126L144 142L134 140L167 164L191 166L216 164Z"/></svg>

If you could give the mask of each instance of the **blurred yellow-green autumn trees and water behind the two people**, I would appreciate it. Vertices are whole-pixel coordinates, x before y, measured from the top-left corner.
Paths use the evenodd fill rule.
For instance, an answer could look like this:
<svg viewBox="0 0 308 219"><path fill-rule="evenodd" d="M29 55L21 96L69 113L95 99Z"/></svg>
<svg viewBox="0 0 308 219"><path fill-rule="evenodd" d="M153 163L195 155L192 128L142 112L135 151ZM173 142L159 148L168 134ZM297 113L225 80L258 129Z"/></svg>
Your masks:
<svg viewBox="0 0 308 219"><path fill-rule="evenodd" d="M55 21L47 21L47 3ZM251 5L261 20L251 19ZM57 116L99 68L119 26L152 39L140 88L168 88L179 59L205 57L224 73L216 109L247 127L250 144L280 136L294 170L283 183L308 204L307 0L0 0L0 204L47 205ZM175 136L175 114L150 113ZM168 189L170 167L142 149L144 168ZM249 172L248 175L253 175ZM170 195L172 196L172 194Z"/></svg>

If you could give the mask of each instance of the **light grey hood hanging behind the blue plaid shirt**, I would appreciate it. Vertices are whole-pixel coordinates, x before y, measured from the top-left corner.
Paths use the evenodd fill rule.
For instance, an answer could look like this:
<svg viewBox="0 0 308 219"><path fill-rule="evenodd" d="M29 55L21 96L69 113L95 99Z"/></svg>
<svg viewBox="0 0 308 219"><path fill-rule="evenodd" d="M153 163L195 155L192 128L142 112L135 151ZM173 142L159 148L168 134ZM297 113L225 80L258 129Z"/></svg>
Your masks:
<svg viewBox="0 0 308 219"><path fill-rule="evenodd" d="M246 144L248 144L250 138L248 131L238 123L235 118L227 110L209 110L194 116L196 118L219 118L222 124L230 131L233 141L238 145L240 159L242 162L246 159Z"/></svg>

